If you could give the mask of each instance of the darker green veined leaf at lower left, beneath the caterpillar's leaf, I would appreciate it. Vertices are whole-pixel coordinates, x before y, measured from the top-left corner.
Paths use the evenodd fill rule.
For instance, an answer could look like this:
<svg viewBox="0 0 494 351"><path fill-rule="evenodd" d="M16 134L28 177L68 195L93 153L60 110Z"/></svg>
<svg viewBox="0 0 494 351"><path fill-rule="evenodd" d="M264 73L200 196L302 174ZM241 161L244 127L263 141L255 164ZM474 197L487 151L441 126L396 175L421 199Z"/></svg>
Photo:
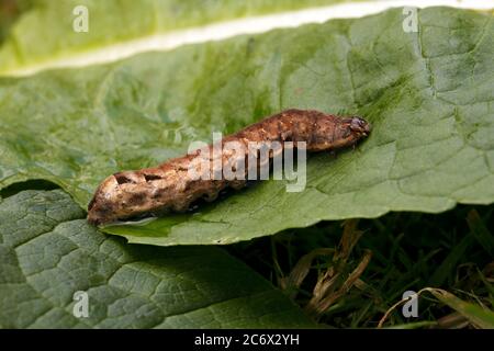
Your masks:
<svg viewBox="0 0 494 351"><path fill-rule="evenodd" d="M0 327L314 327L221 249L126 245L82 215L60 190L0 203ZM78 291L88 294L89 317L72 314Z"/></svg>

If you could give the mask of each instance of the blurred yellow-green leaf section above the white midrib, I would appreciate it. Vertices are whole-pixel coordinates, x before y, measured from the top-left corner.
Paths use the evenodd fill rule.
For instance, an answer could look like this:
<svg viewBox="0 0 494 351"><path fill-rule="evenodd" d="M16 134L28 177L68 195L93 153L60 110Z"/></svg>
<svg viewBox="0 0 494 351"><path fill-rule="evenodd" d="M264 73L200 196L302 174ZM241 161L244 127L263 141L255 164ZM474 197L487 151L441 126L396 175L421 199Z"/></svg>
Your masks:
<svg viewBox="0 0 494 351"><path fill-rule="evenodd" d="M0 75L173 30L345 1L31 0L31 10L0 48ZM80 5L89 13L87 33L72 30Z"/></svg>

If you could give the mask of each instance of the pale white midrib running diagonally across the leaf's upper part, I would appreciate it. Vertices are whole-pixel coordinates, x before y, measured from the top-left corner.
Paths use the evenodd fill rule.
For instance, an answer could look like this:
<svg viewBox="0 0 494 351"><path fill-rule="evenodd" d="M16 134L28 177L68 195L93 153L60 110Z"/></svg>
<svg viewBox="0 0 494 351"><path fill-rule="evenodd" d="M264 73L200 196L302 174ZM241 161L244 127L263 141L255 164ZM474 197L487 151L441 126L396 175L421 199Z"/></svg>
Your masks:
<svg viewBox="0 0 494 351"><path fill-rule="evenodd" d="M448 5L462 9L494 9L494 0L381 0L340 3L322 8L304 9L270 15L238 19L202 27L169 32L125 43L114 44L101 49L77 56L52 60L36 66L9 71L9 76L29 76L52 68L83 67L112 63L149 50L169 50L187 44L222 41L240 34L263 33L273 29L295 27L306 23L323 23L332 19L360 18L390 8Z"/></svg>

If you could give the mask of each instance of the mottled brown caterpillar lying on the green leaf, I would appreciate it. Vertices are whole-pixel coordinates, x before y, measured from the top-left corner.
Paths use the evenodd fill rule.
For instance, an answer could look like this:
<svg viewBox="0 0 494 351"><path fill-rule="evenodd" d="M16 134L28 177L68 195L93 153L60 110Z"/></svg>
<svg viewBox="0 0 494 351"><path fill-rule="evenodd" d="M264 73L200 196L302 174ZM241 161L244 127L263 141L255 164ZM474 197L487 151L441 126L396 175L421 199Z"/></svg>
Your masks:
<svg viewBox="0 0 494 351"><path fill-rule="evenodd" d="M287 110L223 138L221 145L228 141L238 141L244 146L249 141L279 141L284 147L292 141L296 147L297 143L304 141L308 151L334 150L355 145L370 129L370 124L357 116L341 118L313 110ZM205 151L211 151L213 147L214 144L207 146ZM239 189L246 184L246 180L238 179L191 179L188 170L200 155L201 149L198 149L156 168L108 177L89 203L88 220L100 225L162 210L183 212L199 199L213 201L225 188ZM237 156L222 152L220 162L234 165L234 168L242 166L236 161ZM259 167L259 162L248 165L246 155L242 156L244 158L239 159L245 162L246 173L249 167ZM272 158L271 151L269 157ZM214 162L213 158L207 161Z"/></svg>

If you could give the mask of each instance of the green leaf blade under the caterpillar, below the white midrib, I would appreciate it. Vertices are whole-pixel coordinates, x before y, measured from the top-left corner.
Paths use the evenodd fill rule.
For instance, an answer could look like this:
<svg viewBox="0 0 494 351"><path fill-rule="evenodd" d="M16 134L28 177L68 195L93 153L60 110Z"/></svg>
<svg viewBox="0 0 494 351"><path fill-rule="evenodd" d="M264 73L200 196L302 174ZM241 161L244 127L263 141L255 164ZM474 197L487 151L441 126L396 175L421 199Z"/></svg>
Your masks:
<svg viewBox="0 0 494 351"><path fill-rule="evenodd" d="M426 9L418 33L403 20L396 9L0 80L0 185L46 179L86 206L115 171L301 107L362 115L374 129L355 151L311 157L303 192L268 181L200 213L105 230L132 242L227 244L322 219L492 203L492 15Z"/></svg>

